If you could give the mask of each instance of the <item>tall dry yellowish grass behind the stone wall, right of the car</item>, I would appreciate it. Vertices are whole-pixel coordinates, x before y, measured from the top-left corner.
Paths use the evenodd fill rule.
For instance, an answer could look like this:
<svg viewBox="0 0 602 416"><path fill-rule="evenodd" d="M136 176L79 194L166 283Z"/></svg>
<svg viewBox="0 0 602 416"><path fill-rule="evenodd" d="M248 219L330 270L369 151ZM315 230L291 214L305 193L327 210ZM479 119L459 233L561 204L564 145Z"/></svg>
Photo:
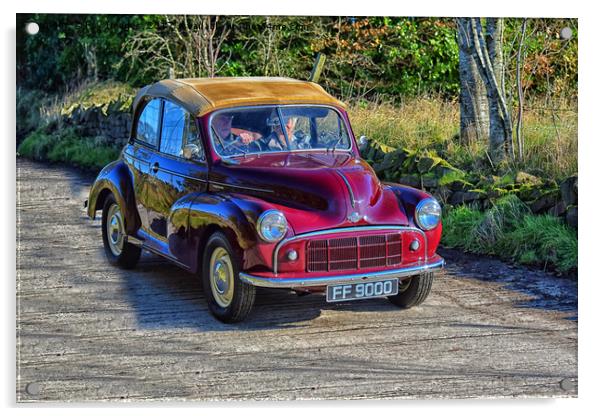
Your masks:
<svg viewBox="0 0 602 416"><path fill-rule="evenodd" d="M552 111L543 100L528 103L524 117L524 162L501 166L495 172L525 170L550 179L577 173L577 104L563 103ZM544 109L542 109L544 108ZM453 166L471 173L489 173L487 142L459 141L458 103L438 97L411 98L393 106L387 103L351 105L349 116L355 134L365 135L394 148L435 151Z"/></svg>

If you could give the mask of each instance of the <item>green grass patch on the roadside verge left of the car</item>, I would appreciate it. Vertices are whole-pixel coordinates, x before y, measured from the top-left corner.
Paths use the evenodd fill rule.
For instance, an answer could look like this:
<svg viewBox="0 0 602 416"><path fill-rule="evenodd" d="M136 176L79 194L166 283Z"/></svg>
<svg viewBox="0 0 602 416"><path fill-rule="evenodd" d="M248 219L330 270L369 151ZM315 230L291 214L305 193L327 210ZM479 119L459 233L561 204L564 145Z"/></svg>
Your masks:
<svg viewBox="0 0 602 416"><path fill-rule="evenodd" d="M35 160L66 163L88 170L100 170L119 156L119 148L103 140L79 137L74 130L57 133L36 130L21 143L18 153Z"/></svg>

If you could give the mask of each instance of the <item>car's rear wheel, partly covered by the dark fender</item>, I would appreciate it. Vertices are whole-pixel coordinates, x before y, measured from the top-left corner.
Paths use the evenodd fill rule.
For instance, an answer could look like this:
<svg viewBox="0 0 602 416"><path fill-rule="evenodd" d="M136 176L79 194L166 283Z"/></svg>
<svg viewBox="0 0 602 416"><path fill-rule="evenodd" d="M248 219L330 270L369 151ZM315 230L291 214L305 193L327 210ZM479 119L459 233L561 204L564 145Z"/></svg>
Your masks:
<svg viewBox="0 0 602 416"><path fill-rule="evenodd" d="M102 209L102 242L111 264L131 269L138 263L141 250L126 241L125 219L113 194Z"/></svg>

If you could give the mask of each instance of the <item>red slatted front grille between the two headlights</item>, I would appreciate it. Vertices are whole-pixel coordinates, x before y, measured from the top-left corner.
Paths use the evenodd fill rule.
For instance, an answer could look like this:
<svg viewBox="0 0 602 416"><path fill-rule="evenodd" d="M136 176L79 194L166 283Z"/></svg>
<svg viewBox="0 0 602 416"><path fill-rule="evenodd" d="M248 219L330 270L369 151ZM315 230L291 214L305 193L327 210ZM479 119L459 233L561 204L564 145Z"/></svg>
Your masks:
<svg viewBox="0 0 602 416"><path fill-rule="evenodd" d="M401 233L337 237L307 242L307 271L328 272L401 263Z"/></svg>

